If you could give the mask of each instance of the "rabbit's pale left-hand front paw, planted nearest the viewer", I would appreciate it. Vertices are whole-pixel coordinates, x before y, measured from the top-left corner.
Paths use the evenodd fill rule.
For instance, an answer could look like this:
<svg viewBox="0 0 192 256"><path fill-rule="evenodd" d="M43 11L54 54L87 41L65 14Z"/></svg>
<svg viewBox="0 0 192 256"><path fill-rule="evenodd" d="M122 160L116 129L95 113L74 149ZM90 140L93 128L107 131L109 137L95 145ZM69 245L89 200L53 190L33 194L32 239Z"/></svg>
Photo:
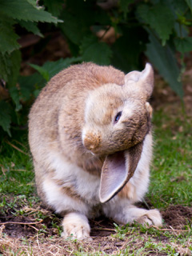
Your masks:
<svg viewBox="0 0 192 256"><path fill-rule="evenodd" d="M77 212L66 214L62 221L62 237L77 239L91 239L90 225L86 215Z"/></svg>

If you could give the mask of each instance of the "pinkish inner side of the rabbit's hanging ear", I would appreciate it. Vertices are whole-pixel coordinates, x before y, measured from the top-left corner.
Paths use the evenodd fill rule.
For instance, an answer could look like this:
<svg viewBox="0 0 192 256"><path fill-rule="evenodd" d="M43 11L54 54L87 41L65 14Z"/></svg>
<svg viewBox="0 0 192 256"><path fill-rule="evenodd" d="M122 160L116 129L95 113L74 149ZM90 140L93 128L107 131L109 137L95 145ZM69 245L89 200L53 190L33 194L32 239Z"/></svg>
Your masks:
<svg viewBox="0 0 192 256"><path fill-rule="evenodd" d="M107 202L126 184L129 168L126 167L125 151L106 156L102 166L99 197Z"/></svg>

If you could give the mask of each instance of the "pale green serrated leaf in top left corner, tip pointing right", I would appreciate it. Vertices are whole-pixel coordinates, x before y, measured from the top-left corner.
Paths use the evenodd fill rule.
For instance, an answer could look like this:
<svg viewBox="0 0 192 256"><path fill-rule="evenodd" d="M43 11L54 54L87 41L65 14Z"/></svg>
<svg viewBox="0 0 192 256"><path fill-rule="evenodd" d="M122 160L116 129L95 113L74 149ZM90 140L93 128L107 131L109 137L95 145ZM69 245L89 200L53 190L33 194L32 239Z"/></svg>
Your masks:
<svg viewBox="0 0 192 256"><path fill-rule="evenodd" d="M62 22L43 10L42 6L36 6L34 1L27 0L0 0L0 15L1 14L23 21Z"/></svg>

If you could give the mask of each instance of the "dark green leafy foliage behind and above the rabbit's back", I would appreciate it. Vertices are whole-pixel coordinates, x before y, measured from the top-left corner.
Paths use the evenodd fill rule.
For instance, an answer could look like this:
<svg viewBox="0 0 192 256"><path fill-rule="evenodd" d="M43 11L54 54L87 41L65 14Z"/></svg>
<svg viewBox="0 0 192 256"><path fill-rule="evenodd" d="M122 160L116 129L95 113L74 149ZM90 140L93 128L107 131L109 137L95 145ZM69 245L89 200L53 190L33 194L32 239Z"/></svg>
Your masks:
<svg viewBox="0 0 192 256"><path fill-rule="evenodd" d="M183 59L192 50L191 20L190 0L0 0L0 80L9 94L0 95L0 107L6 108L0 126L10 134L13 124L25 125L30 104L42 86L76 62L111 64L129 72L142 70L147 57L182 97ZM21 30L40 37L58 30L66 38L70 58L42 66L31 63L36 73L19 76ZM44 47L47 39L40 42ZM34 52L40 50L37 43Z"/></svg>

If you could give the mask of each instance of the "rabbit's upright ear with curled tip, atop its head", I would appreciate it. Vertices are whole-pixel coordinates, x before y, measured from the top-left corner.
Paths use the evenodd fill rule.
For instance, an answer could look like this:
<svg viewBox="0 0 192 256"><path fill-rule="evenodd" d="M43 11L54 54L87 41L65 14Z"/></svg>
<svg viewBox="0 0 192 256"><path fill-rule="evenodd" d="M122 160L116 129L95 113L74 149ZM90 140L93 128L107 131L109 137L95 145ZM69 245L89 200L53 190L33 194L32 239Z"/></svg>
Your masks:
<svg viewBox="0 0 192 256"><path fill-rule="evenodd" d="M138 88L136 88L137 83ZM145 70L142 72L132 71L125 76L125 85L129 86L130 90L137 90L145 98L150 98L154 90L154 70L150 63L146 63Z"/></svg>

